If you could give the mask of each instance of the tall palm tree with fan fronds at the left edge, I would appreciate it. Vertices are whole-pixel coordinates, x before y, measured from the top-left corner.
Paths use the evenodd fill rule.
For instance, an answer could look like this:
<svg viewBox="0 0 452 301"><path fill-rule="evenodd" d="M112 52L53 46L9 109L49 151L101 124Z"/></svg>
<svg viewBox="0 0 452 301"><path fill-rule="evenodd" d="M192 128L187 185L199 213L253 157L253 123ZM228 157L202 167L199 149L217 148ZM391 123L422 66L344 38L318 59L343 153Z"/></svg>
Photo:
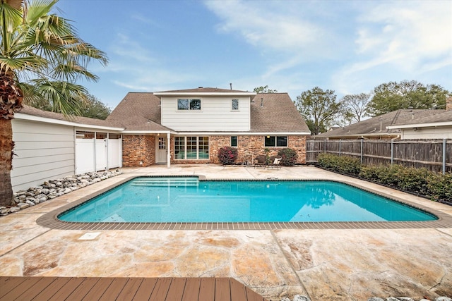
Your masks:
<svg viewBox="0 0 452 301"><path fill-rule="evenodd" d="M88 91L81 79L97 80L90 61L104 52L84 42L68 20L52 13L57 0L0 0L0 206L13 202L11 120L22 102L47 99L66 116L77 113Z"/></svg>

